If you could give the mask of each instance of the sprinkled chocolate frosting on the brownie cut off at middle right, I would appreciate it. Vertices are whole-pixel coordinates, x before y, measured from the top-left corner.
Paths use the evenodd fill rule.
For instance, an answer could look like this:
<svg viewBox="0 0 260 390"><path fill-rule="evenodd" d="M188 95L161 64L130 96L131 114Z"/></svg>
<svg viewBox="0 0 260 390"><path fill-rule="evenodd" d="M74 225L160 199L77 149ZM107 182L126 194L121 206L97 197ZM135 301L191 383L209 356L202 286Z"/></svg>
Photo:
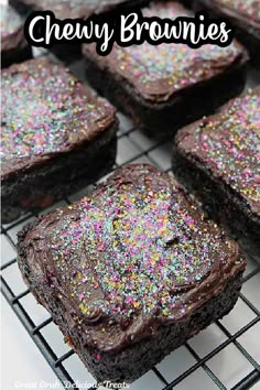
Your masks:
<svg viewBox="0 0 260 390"><path fill-rule="evenodd" d="M260 86L181 130L176 144L260 216Z"/></svg>

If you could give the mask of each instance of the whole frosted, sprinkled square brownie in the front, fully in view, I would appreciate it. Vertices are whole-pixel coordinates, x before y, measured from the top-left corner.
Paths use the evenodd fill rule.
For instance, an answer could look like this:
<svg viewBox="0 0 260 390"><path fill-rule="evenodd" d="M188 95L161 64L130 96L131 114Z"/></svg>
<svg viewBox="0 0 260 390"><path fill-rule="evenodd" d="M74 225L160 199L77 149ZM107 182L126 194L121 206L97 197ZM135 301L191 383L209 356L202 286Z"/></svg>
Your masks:
<svg viewBox="0 0 260 390"><path fill-rule="evenodd" d="M19 234L19 267L98 381L131 382L227 314L238 245L176 180L128 165Z"/></svg>

